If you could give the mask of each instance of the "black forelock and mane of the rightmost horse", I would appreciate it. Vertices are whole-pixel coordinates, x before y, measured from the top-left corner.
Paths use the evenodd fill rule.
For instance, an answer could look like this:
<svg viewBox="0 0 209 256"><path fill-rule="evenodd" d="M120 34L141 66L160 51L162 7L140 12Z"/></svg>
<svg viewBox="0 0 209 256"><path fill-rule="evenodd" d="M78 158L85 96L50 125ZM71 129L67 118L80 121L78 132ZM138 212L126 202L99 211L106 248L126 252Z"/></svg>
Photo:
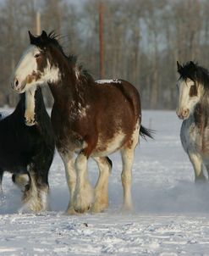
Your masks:
<svg viewBox="0 0 209 256"><path fill-rule="evenodd" d="M179 65L178 72L180 78L184 80L189 78L192 81L201 83L204 88L209 89L209 72L197 63L190 61Z"/></svg>

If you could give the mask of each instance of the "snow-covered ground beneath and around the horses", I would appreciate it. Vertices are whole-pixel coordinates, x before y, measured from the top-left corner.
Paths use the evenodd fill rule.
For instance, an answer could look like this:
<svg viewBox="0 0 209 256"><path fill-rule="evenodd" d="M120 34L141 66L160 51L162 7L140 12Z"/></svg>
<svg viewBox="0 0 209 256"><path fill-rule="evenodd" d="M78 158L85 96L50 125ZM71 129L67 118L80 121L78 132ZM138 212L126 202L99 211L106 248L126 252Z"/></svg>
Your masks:
<svg viewBox="0 0 209 256"><path fill-rule="evenodd" d="M11 175L3 179L0 201L0 255L209 255L209 184L195 184L179 141L172 111L144 111L142 123L156 130L155 140L141 139L135 153L135 212L123 214L121 161L113 154L107 213L68 216L62 160L53 161L49 183L51 211L18 214L21 192ZM91 181L97 169L89 163Z"/></svg>

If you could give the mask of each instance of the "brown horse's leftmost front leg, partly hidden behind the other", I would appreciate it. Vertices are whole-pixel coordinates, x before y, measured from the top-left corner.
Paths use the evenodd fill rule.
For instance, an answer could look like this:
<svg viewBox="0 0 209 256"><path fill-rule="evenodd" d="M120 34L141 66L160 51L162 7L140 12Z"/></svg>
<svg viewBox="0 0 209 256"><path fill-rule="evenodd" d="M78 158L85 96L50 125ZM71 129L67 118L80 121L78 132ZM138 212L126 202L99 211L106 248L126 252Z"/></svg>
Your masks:
<svg viewBox="0 0 209 256"><path fill-rule="evenodd" d="M61 158L63 159L63 164L65 167L65 176L66 181L69 186L69 206L67 209L68 214L75 214L73 207L74 199L74 189L76 184L76 172L74 170L74 153L70 152L68 154L60 153Z"/></svg>

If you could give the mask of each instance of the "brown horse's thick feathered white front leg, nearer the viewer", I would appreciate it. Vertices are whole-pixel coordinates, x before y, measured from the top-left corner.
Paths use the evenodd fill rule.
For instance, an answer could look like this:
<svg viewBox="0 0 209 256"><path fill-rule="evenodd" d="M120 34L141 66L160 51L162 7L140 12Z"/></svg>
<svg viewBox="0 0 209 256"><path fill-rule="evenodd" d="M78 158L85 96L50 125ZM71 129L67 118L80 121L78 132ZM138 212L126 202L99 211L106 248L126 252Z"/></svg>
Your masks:
<svg viewBox="0 0 209 256"><path fill-rule="evenodd" d="M80 153L75 160L77 171L77 181L74 191L74 210L84 213L91 208L94 201L94 193L88 177L87 157L85 153Z"/></svg>

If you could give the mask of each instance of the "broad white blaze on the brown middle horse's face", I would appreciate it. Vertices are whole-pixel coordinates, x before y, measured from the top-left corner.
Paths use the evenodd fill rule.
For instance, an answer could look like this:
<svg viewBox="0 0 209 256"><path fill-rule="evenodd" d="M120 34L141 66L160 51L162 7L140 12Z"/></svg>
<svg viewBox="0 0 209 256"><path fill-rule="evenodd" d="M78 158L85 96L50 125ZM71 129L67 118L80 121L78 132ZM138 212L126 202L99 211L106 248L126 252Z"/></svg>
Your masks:
<svg viewBox="0 0 209 256"><path fill-rule="evenodd" d="M13 88L17 92L25 92L27 77L37 71L36 54L40 53L36 46L30 46L19 60L13 75Z"/></svg>

